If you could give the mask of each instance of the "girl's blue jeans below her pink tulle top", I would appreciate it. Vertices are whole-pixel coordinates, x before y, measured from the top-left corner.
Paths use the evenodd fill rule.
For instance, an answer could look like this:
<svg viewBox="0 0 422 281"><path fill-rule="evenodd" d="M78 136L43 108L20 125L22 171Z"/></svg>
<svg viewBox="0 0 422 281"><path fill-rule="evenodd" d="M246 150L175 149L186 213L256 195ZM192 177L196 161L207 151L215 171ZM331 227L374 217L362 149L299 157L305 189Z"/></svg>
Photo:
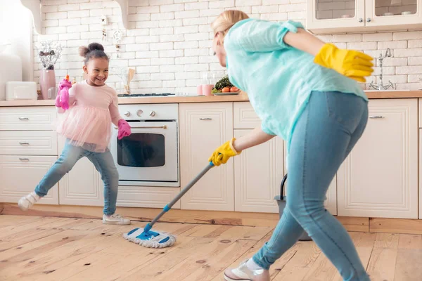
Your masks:
<svg viewBox="0 0 422 281"><path fill-rule="evenodd" d="M39 182L35 188L35 193L41 197L47 195L50 188L58 183L60 178L63 178L82 157L87 157L101 174L101 179L104 183L104 214L114 214L116 210L117 190L119 188L119 173L117 172L110 151L102 153L91 152L84 150L84 148L70 145L67 141L60 158Z"/></svg>

